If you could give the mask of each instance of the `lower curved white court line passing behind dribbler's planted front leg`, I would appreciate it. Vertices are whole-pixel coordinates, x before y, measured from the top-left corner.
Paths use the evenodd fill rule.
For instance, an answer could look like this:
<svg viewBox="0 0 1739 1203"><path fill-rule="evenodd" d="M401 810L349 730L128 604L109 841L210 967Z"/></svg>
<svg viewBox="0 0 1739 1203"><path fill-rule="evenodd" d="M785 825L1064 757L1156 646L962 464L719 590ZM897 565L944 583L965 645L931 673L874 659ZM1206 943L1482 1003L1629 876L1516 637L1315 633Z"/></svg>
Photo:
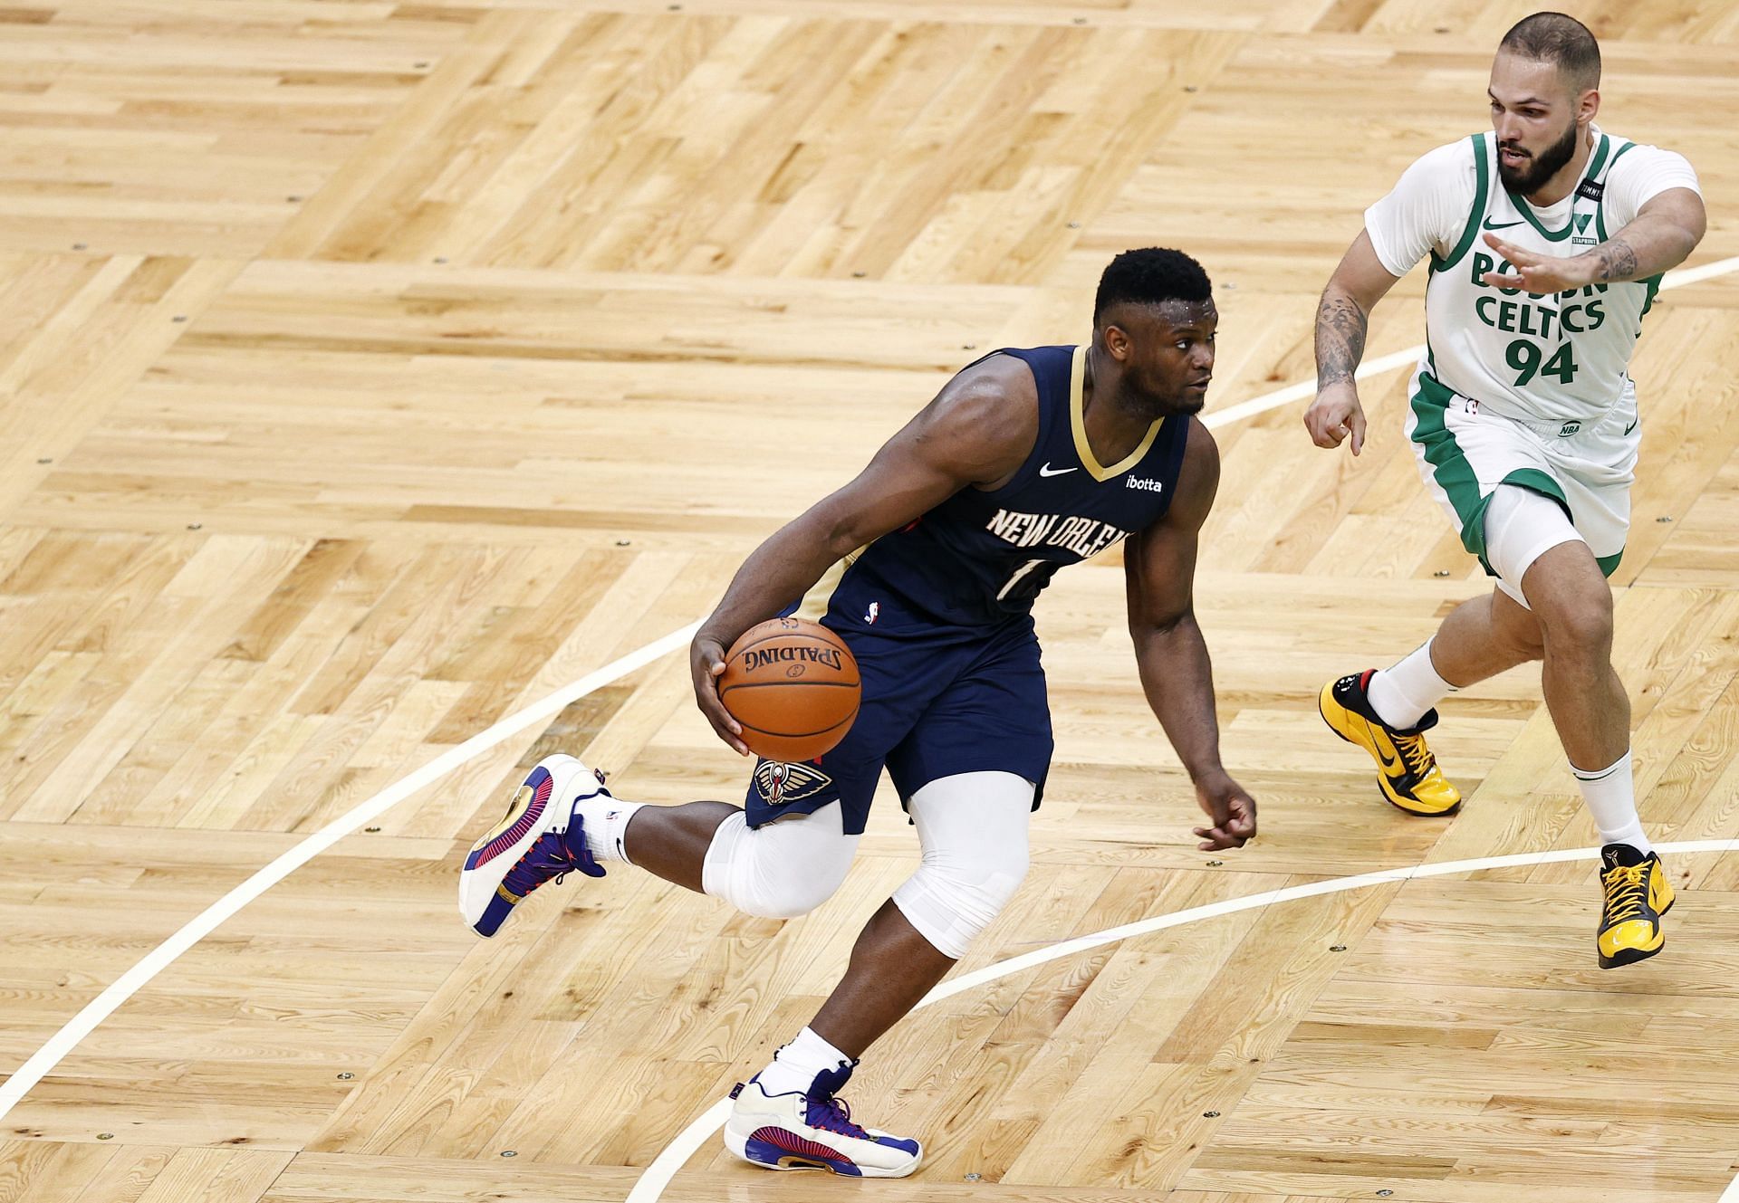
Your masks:
<svg viewBox="0 0 1739 1203"><path fill-rule="evenodd" d="M1662 855L1683 855L1694 852L1734 852L1739 850L1739 840L1685 840L1680 843L1657 843L1654 845ZM1443 861L1442 864L1419 864L1410 869L1383 869L1381 873L1360 873L1351 878L1334 878L1330 881L1311 881L1308 885L1292 885L1283 890L1268 890L1264 894L1247 894L1238 899L1224 899L1221 902L1209 902L1207 906L1193 906L1186 911L1172 911L1170 914L1156 914L1149 920L1137 920L1134 923L1123 923L1122 927L1109 927L1103 932L1094 932L1090 935L1080 935L1073 940L1063 940L1061 944L1052 944L1050 947L1035 949L1031 953L1023 953L1021 956L1010 956L1005 961L996 961L995 965L986 965L984 968L974 970L970 974L962 974L960 977L943 982L913 1010L929 1007L930 1003L939 1003L944 998L953 998L969 989L977 989L979 986L988 986L989 982L1010 977L1014 974L1026 972L1047 961L1056 961L1064 956L1075 956L1076 953L1085 953L1104 944L1115 944L1118 940L1127 940L1137 935L1151 935L1153 932L1163 932L1170 927L1183 927L1186 923L1196 923L1200 920L1216 920L1223 914L1236 914L1238 911L1254 911L1257 907L1273 906L1275 902L1292 902L1297 899L1311 899L1323 894L1344 894L1348 890L1363 890L1370 885L1383 885L1386 881L1414 881L1417 878L1442 878L1454 873L1478 873L1480 869L1509 869L1516 866L1529 864L1553 864L1560 861L1598 861L1600 848L1558 848L1551 852L1516 852L1506 857L1480 857L1476 861ZM730 1118L730 1100L723 1099L715 1102L711 1107L696 1116L687 1128L676 1133L676 1139L664 1146L664 1151L654 1158L652 1165L635 1180L633 1189L628 1193L626 1203L654 1203L670 1186L670 1180L676 1177L676 1170L694 1156L703 1144L706 1144L722 1127L725 1120ZM1739 1201L1739 1179L1727 1187L1722 1194L1720 1203Z"/></svg>

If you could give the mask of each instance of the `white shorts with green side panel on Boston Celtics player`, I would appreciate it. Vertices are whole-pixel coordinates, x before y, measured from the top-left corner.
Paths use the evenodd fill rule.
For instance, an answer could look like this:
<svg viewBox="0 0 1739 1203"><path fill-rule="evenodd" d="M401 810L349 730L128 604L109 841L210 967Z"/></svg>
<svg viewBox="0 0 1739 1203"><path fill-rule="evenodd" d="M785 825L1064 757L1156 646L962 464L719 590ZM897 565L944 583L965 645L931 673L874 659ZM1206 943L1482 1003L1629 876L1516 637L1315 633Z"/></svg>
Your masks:
<svg viewBox="0 0 1739 1203"><path fill-rule="evenodd" d="M1619 567L1629 534L1629 487L1636 478L1636 389L1626 379L1619 403L1591 422L1522 421L1482 409L1433 376L1419 370L1412 381L1407 438L1419 457L1426 489L1449 513L1461 544L1497 577L1497 588L1522 605L1522 574L1548 548L1581 537L1607 575ZM1492 497L1501 485L1518 485L1556 502L1574 527L1562 530L1549 509L1548 522L1527 542L1527 532L1506 530L1502 556L1492 537ZM1523 509L1523 518L1529 511ZM1518 544L1518 539L1522 542Z"/></svg>

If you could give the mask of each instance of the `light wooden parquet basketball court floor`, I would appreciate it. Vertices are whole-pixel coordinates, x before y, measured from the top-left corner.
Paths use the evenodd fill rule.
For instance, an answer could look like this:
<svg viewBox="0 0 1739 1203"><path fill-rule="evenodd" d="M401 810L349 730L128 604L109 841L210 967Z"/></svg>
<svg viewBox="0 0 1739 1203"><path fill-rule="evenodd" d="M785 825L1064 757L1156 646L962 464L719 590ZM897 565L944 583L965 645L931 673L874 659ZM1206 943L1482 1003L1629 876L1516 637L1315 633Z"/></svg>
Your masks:
<svg viewBox="0 0 1739 1203"><path fill-rule="evenodd" d="M1683 151L1739 256L1739 7L1565 0L1607 129ZM1537 673L1447 706L1471 794L1386 807L1315 713L1487 588L1372 443L1224 422L1198 610L1263 834L1202 854L1113 563L1040 605L1033 873L849 1095L920 1173L647 1166L812 1014L916 864L748 920L647 874L506 934L459 857L523 767L741 796L685 657L468 756L160 946L327 824L701 617L960 363L1087 334L1177 245L1210 412L1311 376L1362 210L1485 125L1497 0L21 0L0 9L0 1200L31 1203L1715 1203L1739 1173L1739 855L1668 854L1668 951L1595 967L1595 831ZM1423 273L1369 358L1423 337ZM1739 836L1739 271L1662 294L1617 586L1642 814ZM1487 869L1341 878L1489 857ZM228 911L226 911L228 914ZM75 1047L56 1034L136 963ZM38 1066L42 1062L38 1060ZM14 1088L26 1074L14 1078ZM636 1187L636 1182L642 1182Z"/></svg>

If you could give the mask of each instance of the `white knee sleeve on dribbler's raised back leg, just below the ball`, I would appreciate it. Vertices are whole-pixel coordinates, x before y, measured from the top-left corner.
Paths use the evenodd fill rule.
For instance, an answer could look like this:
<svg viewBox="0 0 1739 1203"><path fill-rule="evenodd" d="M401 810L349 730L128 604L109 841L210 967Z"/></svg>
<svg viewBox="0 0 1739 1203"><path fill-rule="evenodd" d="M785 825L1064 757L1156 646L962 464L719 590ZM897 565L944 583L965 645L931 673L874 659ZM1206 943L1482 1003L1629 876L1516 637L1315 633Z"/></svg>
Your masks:
<svg viewBox="0 0 1739 1203"><path fill-rule="evenodd" d="M795 920L833 897L856 852L836 801L756 829L737 812L713 833L701 888L746 914Z"/></svg>

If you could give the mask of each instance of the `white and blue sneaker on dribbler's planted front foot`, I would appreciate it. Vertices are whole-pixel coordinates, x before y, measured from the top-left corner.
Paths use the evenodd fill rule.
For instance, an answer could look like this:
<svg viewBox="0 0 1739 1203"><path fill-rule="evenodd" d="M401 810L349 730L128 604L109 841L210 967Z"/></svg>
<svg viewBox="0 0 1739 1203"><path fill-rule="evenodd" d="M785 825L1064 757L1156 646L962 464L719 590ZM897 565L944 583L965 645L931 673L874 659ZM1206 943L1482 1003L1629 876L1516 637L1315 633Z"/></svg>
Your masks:
<svg viewBox="0 0 1739 1203"><path fill-rule="evenodd" d="M750 1165L826 1170L854 1179L903 1179L923 1160L916 1140L852 1123L852 1109L819 1080L809 1093L769 1095L756 1074L748 1083L739 1081L730 1097L725 1147Z"/></svg>

